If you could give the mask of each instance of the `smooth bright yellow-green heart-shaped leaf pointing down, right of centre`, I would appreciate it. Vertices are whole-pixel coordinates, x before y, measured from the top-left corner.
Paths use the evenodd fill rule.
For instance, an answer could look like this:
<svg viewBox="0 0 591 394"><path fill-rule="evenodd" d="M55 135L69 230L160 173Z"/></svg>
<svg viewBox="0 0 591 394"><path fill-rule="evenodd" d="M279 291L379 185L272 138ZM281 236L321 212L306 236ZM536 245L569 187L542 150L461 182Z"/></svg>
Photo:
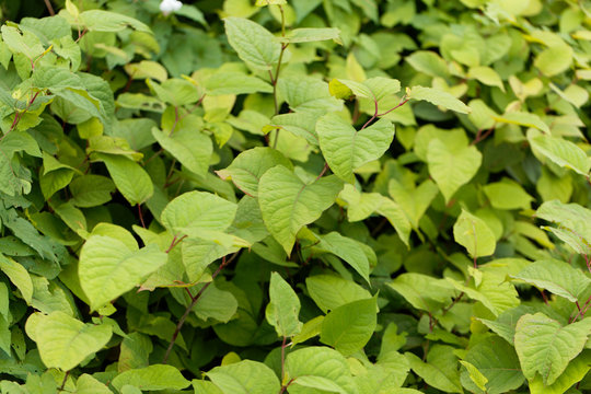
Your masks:
<svg viewBox="0 0 591 394"><path fill-rule="evenodd" d="M476 147L451 148L439 139L429 142L427 161L429 174L449 202L457 189L478 172L483 160Z"/></svg>

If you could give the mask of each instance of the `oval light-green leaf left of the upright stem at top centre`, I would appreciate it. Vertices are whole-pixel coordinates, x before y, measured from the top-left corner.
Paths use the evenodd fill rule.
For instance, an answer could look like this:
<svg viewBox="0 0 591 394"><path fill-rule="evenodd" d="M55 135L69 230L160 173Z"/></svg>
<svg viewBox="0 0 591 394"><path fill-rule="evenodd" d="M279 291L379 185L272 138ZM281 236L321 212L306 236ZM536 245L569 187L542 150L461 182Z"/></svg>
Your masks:
<svg viewBox="0 0 591 394"><path fill-rule="evenodd" d="M225 18L228 40L239 57L262 70L270 70L279 60L281 44L258 23L243 18Z"/></svg>

